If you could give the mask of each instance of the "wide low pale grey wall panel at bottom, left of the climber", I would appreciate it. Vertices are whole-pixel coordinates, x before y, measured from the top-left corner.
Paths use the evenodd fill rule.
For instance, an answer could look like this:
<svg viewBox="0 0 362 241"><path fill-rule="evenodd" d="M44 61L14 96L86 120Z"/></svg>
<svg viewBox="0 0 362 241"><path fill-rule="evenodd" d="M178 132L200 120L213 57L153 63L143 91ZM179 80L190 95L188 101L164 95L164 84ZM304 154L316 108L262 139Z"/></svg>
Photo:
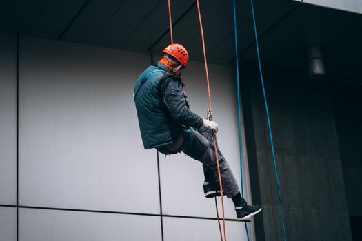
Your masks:
<svg viewBox="0 0 362 241"><path fill-rule="evenodd" d="M19 209L19 240L161 240L159 217Z"/></svg>

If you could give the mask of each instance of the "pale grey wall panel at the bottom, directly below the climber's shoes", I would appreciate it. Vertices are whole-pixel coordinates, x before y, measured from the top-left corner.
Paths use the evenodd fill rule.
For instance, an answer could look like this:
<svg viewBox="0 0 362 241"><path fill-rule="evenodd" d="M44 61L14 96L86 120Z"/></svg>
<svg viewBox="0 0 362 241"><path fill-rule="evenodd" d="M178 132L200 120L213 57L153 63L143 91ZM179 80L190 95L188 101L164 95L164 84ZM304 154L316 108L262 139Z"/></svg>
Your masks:
<svg viewBox="0 0 362 241"><path fill-rule="evenodd" d="M225 225L228 240L247 240L243 222L226 221ZM166 241L220 240L217 220L163 218L163 235Z"/></svg>

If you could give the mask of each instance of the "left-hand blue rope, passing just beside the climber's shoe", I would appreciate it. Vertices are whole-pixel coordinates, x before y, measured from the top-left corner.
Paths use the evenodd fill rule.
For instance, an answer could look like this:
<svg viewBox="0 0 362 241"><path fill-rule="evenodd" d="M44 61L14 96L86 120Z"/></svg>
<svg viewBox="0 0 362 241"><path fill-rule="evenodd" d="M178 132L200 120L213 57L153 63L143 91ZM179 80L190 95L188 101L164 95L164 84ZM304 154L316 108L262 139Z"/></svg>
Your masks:
<svg viewBox="0 0 362 241"><path fill-rule="evenodd" d="M237 56L237 89L238 89L238 128L239 128L239 158L240 158L240 175L241 175L241 196L244 196L244 188L243 188L243 145L242 145L242 138L241 138L241 107L240 107L240 83L239 83L239 56L238 56L238 41L237 41L237 11L235 6L235 0L233 0L234 4L234 38L235 38L235 54ZM246 222L245 224L245 231L246 237L249 239L249 231Z"/></svg>

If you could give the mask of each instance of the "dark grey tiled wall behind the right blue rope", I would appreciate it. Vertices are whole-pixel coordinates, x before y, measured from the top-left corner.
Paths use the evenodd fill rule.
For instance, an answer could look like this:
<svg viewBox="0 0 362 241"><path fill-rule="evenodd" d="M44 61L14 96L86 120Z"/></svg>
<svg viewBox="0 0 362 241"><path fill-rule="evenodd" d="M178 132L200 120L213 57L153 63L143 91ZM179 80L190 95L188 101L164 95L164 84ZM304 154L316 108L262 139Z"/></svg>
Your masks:
<svg viewBox="0 0 362 241"><path fill-rule="evenodd" d="M243 63L243 105L257 240L283 240L257 64ZM332 87L305 70L263 65L288 240L352 240Z"/></svg>

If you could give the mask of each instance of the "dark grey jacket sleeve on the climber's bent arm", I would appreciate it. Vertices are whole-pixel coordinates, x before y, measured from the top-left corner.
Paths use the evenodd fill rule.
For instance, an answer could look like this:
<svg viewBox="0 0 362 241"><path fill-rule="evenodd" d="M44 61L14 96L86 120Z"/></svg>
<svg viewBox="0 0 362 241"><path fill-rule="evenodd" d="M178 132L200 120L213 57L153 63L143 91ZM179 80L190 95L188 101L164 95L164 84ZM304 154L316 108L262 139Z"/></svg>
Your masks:
<svg viewBox="0 0 362 241"><path fill-rule="evenodd" d="M174 121L194 128L203 125L203 118L192 112L183 95L183 84L172 77L166 78L161 87L163 102L170 111Z"/></svg>

